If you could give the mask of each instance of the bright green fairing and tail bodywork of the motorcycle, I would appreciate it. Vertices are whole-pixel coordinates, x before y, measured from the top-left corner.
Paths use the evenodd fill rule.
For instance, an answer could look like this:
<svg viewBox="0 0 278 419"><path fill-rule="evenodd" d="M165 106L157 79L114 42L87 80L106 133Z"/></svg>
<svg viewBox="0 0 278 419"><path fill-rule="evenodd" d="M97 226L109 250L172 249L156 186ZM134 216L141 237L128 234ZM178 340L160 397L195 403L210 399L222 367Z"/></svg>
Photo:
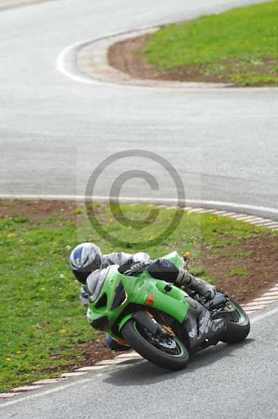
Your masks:
<svg viewBox="0 0 278 419"><path fill-rule="evenodd" d="M173 262L177 267L183 267L184 265L183 258L179 256L176 251L169 253L169 255L164 256L164 258L171 260L171 262ZM120 282L123 283L126 299L120 307L111 310L111 304L114 300L116 287ZM88 322L92 323L102 316L107 316L109 320L109 328L107 328L105 332L109 333L109 335L114 337L114 339L121 339L121 337L115 335L111 330L117 322L119 316L121 316L125 308L131 303L150 308L150 305L145 304L145 302L148 299L148 295L152 294L153 304L151 307L170 314L176 318L179 323L183 323L190 307L190 305L185 301L187 293L173 285L171 285L171 291L167 293L164 291L164 287L167 284L168 283L166 281L153 279L147 271L139 274L137 277L125 277L118 272L117 265L112 265L108 270L107 277L97 300L95 300L95 302L91 302L88 307ZM105 307L98 308L98 302L105 293L107 295L107 304ZM130 315L127 315L122 319L121 325L117 327L118 330L121 330L121 327L126 321L128 321L129 318ZM116 328L114 328L114 331L115 329Z"/></svg>

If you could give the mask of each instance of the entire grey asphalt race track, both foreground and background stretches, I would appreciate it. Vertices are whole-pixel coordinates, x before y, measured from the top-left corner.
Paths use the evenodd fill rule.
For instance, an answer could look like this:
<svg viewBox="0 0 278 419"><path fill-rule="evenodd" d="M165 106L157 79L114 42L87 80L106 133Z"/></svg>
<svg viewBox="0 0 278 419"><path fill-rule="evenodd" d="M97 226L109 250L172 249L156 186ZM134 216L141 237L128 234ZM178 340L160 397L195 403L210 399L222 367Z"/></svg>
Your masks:
<svg viewBox="0 0 278 419"><path fill-rule="evenodd" d="M82 40L254 2L61 0L2 10L1 195L82 195L103 159L140 148L178 170L187 198L278 210L277 89L83 84L56 66ZM137 163L160 181L157 199L176 197L161 168ZM109 168L95 193L107 196L123 166L134 162ZM143 181L123 187L130 198L150 192ZM109 367L1 402L0 417L276 419L278 306L251 318L245 343L209 348L183 372L145 361Z"/></svg>

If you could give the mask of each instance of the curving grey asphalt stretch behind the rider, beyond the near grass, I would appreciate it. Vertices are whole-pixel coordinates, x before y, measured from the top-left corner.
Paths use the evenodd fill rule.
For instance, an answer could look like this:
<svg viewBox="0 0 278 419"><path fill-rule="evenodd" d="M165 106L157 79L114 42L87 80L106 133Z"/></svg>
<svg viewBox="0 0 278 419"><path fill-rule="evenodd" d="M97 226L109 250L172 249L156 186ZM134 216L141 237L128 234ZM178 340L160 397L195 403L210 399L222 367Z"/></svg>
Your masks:
<svg viewBox="0 0 278 419"><path fill-rule="evenodd" d="M175 166L187 198L278 209L277 89L82 84L56 67L73 43L244 3L61 0L1 11L0 193L82 195L103 159L140 148ZM141 165L161 181L157 198L176 197L159 168ZM109 194L120 166L95 194ZM149 189L126 182L123 195L153 196Z"/></svg>

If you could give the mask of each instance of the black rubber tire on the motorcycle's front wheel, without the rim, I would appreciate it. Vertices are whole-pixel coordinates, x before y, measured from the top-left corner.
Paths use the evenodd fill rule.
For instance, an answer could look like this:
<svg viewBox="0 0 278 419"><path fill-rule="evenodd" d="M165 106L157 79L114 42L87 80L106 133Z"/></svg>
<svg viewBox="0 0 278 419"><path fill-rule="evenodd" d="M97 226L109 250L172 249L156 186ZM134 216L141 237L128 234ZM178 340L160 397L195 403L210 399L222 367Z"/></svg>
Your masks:
<svg viewBox="0 0 278 419"><path fill-rule="evenodd" d="M176 337L171 338L176 342L176 354L162 351L150 343L148 334L144 332L142 325L137 323L134 318L130 318L122 328L123 337L128 344L137 351L143 358L153 362L158 367L178 370L186 367L189 360L187 349Z"/></svg>

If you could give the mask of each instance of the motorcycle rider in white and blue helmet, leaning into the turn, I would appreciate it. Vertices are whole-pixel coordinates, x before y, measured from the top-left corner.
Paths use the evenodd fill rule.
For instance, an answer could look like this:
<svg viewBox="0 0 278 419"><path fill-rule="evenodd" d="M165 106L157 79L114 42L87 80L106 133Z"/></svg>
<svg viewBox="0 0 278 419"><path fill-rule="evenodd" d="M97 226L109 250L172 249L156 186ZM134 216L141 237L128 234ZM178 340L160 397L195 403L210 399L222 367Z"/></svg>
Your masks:
<svg viewBox="0 0 278 419"><path fill-rule="evenodd" d="M70 254L70 267L77 281L82 286L79 293L80 300L85 306L88 305L88 293L86 291L86 282L93 281L97 283L102 270L110 265L118 265L118 271L125 275L136 275L139 272L147 270L151 277L168 281L178 286L185 286L190 291L196 291L199 295L206 295L209 300L215 297L215 288L203 279L194 277L184 268L178 268L167 259L151 260L148 253L139 252L130 253L119 252L109 253L102 256L100 248L93 243L85 242L78 244ZM112 350L123 351L128 346L114 341L107 337L107 346Z"/></svg>

